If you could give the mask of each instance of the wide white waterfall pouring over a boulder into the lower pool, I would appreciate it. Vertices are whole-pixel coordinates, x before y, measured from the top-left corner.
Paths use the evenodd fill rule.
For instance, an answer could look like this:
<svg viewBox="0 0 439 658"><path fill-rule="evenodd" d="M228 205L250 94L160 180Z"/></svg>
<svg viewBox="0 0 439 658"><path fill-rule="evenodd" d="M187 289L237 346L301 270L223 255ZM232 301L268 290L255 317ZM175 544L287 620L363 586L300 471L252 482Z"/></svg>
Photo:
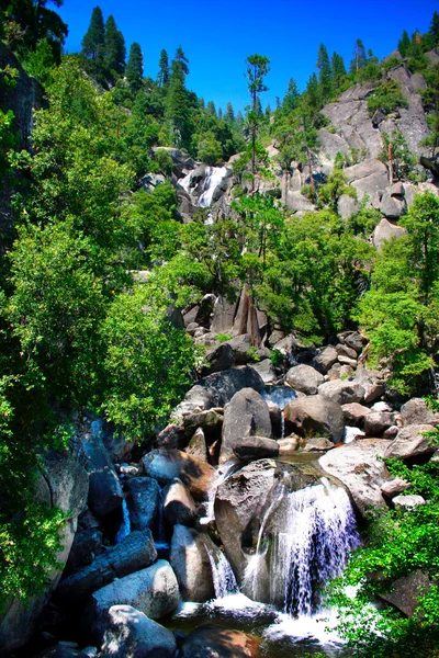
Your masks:
<svg viewBox="0 0 439 658"><path fill-rule="evenodd" d="M293 616L318 609L319 590L341 575L359 545L347 492L326 478L320 481L293 492L279 486L244 577L248 595L268 599Z"/></svg>

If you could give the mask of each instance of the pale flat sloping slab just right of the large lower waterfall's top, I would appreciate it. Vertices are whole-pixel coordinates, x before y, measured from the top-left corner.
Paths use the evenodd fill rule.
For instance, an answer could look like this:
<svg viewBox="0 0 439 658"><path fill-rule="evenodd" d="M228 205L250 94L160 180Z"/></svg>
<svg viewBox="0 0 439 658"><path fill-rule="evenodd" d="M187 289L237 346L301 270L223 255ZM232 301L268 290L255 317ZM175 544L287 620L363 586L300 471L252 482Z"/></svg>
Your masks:
<svg viewBox="0 0 439 658"><path fill-rule="evenodd" d="M348 487L361 514L370 506L385 504L381 485L389 475L381 457L390 443L384 439L361 439L331 450L318 460L322 468Z"/></svg>

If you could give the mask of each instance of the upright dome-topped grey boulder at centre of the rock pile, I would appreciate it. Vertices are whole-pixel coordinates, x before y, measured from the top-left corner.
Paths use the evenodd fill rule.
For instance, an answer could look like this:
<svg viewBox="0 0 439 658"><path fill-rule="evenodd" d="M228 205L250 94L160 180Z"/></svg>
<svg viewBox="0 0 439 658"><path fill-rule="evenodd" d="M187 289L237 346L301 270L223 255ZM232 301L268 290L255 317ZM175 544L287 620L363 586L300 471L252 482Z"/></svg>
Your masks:
<svg viewBox="0 0 439 658"><path fill-rule="evenodd" d="M234 450L244 436L271 438L270 411L266 400L252 388L243 388L224 409L219 463L234 456Z"/></svg>

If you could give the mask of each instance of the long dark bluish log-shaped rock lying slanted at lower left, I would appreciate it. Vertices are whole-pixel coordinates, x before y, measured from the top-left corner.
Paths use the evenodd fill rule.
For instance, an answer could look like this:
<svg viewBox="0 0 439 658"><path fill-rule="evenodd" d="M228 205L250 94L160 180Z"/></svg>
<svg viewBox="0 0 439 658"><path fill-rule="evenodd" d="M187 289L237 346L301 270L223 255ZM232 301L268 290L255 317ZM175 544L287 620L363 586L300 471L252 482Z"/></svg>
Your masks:
<svg viewBox="0 0 439 658"><path fill-rule="evenodd" d="M157 559L157 551L149 530L134 531L120 544L99 555L91 565L65 578L57 594L67 600L82 600L113 580L148 567Z"/></svg>

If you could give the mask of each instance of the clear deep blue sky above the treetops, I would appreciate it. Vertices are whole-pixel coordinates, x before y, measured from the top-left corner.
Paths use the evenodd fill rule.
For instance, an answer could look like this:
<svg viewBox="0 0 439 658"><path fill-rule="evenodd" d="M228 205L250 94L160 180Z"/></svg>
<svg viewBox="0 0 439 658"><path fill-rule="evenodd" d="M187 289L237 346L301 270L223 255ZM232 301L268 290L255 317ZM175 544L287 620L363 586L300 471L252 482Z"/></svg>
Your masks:
<svg viewBox="0 0 439 658"><path fill-rule="evenodd" d="M300 89L315 70L323 42L349 65L353 43L382 58L396 47L404 29L426 32L439 0L64 0L58 10L69 26L66 48L80 49L95 4L104 20L113 14L127 49L140 44L145 75L156 78L161 48L172 58L181 44L189 59L188 87L216 106L248 104L245 59L258 53L271 60L263 106L273 107L288 81Z"/></svg>

